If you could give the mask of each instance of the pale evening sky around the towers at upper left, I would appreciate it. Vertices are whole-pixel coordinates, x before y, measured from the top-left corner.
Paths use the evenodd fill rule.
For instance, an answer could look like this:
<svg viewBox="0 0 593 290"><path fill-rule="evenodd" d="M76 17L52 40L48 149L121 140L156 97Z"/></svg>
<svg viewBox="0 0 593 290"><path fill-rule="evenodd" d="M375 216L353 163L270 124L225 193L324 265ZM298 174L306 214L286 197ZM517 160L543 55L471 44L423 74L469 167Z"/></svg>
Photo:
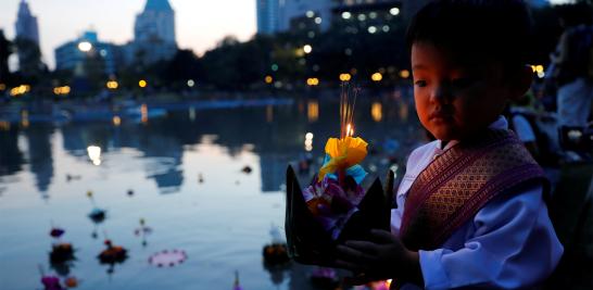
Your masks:
<svg viewBox="0 0 593 290"><path fill-rule="evenodd" d="M21 0L4 0L0 9L0 29L10 40L15 37ZM92 28L108 42L124 45L134 39L136 15L146 5L146 0L27 0L31 13L39 23L42 59L50 70L55 67L54 49L85 30ZM177 43L181 49L191 49L201 55L212 49L225 36L234 35L248 40L256 31L256 11L253 0L169 0L176 11ZM117 8L114 11L112 8ZM230 9L229 9L230 8ZM67 15L67 16L64 16ZM216 16L215 16L216 15ZM15 64L14 55L11 65Z"/></svg>

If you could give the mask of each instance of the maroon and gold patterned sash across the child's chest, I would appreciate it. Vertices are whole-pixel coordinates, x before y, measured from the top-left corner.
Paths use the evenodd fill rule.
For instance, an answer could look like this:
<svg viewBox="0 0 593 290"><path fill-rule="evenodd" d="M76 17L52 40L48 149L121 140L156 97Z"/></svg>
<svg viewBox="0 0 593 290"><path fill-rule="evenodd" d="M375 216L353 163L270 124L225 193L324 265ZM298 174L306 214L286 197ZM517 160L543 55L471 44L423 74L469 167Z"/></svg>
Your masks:
<svg viewBox="0 0 593 290"><path fill-rule="evenodd" d="M542 168L509 130L488 130L437 157L407 196L400 237L409 250L433 250L490 200L530 182Z"/></svg>

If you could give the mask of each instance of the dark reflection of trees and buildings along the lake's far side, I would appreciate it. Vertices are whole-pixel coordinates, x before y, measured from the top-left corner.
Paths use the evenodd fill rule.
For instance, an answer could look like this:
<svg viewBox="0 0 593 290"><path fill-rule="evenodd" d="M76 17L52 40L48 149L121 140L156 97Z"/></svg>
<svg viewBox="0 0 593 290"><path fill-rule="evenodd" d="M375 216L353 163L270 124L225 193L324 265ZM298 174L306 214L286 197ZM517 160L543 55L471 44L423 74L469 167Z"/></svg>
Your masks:
<svg viewBox="0 0 593 290"><path fill-rule="evenodd" d="M383 108L382 103L388 104ZM401 138L416 126L415 121L408 119L408 103L401 91L374 98L371 102L361 101L355 116L358 134L370 141ZM299 113L303 110L302 102L296 106L248 108L232 114L216 111L198 114L195 109L189 108L189 114L169 112L167 117L152 119L146 126L119 122L116 123L118 126L106 126L98 122L66 124L58 130L68 154L81 157L87 152L94 165L111 162L112 152L127 148L140 151L141 157L149 160L143 168L147 179L153 180L162 193L178 192L184 184L184 148L202 142L202 137L216 136L215 142L227 148L230 155L242 152L243 144L251 143L252 151L261 157L262 191L268 192L279 190L287 163L299 159L303 149L323 152L323 142L336 135L338 105L332 101L323 104L326 112L323 115L319 114L319 101L311 99L306 101L306 116ZM305 122L303 117L306 117ZM54 129L50 124L35 124L29 128L12 126L0 131L0 175L15 174L28 163L38 190L46 192L53 178L51 138ZM302 136L310 131L319 138L305 140L307 143L303 147ZM27 159L18 147L18 136L26 140Z"/></svg>

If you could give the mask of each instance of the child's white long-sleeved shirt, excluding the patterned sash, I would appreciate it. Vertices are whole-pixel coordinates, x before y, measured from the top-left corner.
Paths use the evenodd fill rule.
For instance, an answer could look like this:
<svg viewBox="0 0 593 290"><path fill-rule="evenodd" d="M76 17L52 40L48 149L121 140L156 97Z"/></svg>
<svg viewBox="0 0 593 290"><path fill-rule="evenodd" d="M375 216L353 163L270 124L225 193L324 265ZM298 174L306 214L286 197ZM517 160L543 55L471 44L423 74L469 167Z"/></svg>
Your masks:
<svg viewBox="0 0 593 290"><path fill-rule="evenodd" d="M507 129L501 116L490 128ZM441 141L412 152L406 174L396 194L398 209L391 212L391 231L399 235L405 200L416 177L444 151L457 144ZM480 287L517 289L542 282L558 264L563 247L558 241L542 198L541 185L488 202L433 251L419 251L426 289ZM406 285L404 289L414 289Z"/></svg>

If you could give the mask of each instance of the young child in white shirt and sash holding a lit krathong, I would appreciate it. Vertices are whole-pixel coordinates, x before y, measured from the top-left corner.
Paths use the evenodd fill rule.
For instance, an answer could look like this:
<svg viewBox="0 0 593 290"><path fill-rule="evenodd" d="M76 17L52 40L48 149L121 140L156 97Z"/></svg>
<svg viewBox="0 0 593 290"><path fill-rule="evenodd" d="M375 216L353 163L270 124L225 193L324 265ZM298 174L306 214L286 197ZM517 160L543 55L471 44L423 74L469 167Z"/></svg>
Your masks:
<svg viewBox="0 0 593 290"><path fill-rule="evenodd" d="M530 29L520 0L438 0L415 16L416 111L438 140L412 152L391 232L338 247L353 283L517 289L553 272L547 180L501 116L530 86Z"/></svg>

